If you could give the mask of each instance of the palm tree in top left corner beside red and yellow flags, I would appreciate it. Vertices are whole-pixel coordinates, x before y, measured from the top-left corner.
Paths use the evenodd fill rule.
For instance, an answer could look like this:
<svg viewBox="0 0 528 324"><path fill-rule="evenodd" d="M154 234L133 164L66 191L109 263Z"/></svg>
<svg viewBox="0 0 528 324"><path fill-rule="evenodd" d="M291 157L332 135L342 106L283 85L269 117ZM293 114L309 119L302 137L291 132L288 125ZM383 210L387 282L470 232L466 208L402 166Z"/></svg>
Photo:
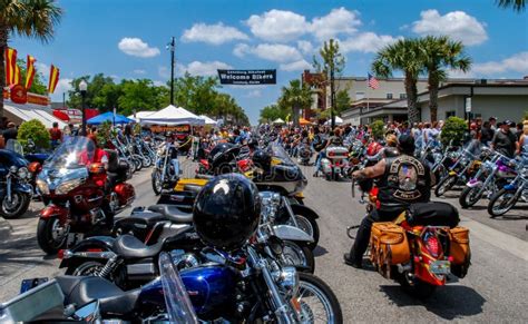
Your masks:
<svg viewBox="0 0 528 324"><path fill-rule="evenodd" d="M49 42L59 23L62 9L51 0L0 1L0 89L6 87L3 53L9 37L14 35ZM3 117L3 96L0 96L0 118Z"/></svg>

